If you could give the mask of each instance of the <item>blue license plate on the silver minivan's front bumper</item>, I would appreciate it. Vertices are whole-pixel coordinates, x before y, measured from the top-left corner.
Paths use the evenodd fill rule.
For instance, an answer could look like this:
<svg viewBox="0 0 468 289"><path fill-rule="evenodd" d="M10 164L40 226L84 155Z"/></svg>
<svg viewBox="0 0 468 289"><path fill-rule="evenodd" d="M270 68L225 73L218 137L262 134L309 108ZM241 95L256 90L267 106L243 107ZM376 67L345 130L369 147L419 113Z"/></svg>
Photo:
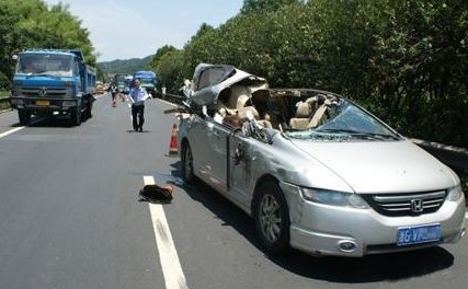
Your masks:
<svg viewBox="0 0 468 289"><path fill-rule="evenodd" d="M397 246L407 246L441 240L441 224L398 228Z"/></svg>

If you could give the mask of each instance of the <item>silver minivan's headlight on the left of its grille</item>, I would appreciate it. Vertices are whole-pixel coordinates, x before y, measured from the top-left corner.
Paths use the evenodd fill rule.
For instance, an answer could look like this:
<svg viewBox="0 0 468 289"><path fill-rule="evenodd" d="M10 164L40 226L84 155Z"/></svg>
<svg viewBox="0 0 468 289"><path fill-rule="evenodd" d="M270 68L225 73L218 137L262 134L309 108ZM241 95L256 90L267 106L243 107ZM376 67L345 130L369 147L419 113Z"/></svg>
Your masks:
<svg viewBox="0 0 468 289"><path fill-rule="evenodd" d="M358 195L352 193L304 187L300 193L305 199L313 203L356 209L368 208L367 204Z"/></svg>

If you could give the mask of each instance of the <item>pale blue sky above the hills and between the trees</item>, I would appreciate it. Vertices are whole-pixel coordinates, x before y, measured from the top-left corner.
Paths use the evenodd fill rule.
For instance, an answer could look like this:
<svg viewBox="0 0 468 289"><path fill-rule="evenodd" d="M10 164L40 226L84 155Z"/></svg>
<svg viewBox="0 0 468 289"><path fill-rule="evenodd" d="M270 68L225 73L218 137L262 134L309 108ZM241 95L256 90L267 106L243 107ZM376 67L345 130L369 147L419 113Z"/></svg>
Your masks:
<svg viewBox="0 0 468 289"><path fill-rule="evenodd" d="M98 62L144 58L164 45L183 48L203 23L218 27L243 0L43 0L68 5L90 33Z"/></svg>

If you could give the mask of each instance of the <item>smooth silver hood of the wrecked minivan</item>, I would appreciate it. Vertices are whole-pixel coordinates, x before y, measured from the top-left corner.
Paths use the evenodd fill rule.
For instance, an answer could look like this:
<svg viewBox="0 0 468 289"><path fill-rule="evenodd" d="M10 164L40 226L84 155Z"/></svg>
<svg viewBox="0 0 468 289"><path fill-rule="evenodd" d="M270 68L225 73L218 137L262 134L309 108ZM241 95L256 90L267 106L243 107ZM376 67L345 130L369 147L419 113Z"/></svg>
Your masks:
<svg viewBox="0 0 468 289"><path fill-rule="evenodd" d="M408 141L293 141L359 194L427 192L457 184L450 169Z"/></svg>

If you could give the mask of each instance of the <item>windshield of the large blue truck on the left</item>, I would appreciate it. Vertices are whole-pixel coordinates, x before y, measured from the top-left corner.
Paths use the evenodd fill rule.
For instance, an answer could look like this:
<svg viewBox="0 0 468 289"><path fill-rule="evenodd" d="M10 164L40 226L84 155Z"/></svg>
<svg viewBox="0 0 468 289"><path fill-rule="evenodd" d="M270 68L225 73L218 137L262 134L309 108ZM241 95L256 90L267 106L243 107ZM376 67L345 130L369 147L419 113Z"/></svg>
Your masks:
<svg viewBox="0 0 468 289"><path fill-rule="evenodd" d="M72 67L73 58L71 55L24 54L18 62L16 73L71 77Z"/></svg>

